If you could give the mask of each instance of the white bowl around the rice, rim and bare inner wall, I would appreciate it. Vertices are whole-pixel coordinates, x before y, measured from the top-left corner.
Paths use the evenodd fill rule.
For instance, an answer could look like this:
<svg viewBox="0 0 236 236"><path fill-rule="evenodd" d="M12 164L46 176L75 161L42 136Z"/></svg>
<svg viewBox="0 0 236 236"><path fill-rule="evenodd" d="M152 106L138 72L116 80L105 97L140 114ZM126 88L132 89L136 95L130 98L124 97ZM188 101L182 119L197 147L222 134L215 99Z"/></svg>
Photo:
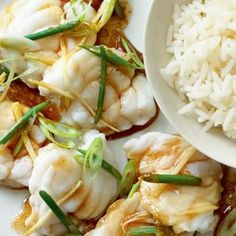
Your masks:
<svg viewBox="0 0 236 236"><path fill-rule="evenodd" d="M166 118L189 143L210 158L236 167L236 143L227 138L221 129L205 132L203 126L196 120L180 115L178 110L184 106L184 102L173 89L168 87L160 75L160 69L169 60L169 54L166 52L166 36L174 3L183 1L154 0L149 12L144 60L154 96Z"/></svg>

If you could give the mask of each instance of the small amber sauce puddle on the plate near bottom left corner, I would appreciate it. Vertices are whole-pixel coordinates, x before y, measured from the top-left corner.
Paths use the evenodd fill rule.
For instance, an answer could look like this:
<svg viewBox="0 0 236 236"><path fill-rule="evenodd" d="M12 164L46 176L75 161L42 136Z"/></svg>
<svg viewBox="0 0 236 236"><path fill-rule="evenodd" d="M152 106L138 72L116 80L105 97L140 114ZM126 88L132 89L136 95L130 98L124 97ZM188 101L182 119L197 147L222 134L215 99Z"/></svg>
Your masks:
<svg viewBox="0 0 236 236"><path fill-rule="evenodd" d="M26 219L31 214L31 206L29 204L29 199L24 201L23 209L19 215L17 215L12 222L12 228L14 228L18 233L25 233L29 230L28 227L25 226Z"/></svg>

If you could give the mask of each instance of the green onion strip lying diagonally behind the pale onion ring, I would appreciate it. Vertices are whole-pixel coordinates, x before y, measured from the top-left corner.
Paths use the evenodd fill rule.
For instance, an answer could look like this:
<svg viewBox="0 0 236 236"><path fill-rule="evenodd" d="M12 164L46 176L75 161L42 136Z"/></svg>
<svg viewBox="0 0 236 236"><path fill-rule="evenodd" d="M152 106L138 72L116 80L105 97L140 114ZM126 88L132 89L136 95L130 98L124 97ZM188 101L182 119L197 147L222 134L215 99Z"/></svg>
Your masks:
<svg viewBox="0 0 236 236"><path fill-rule="evenodd" d="M84 165L86 151L82 149L77 149L77 151L80 152L81 155L74 156L74 159L78 164ZM86 167L89 167L89 165L87 164ZM104 159L102 160L102 168L106 170L109 174L113 175L118 181L122 179L122 175L120 174L120 172Z"/></svg>

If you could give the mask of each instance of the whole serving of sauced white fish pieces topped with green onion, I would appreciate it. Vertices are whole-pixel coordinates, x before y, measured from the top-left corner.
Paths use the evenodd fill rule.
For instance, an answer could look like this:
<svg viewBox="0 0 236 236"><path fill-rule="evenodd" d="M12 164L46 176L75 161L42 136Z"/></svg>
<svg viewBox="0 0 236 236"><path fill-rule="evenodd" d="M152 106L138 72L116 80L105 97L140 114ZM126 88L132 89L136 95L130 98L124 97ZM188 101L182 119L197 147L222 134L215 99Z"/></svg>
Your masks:
<svg viewBox="0 0 236 236"><path fill-rule="evenodd" d="M235 234L235 170L178 135L111 143L158 116L129 13L125 0L0 10L0 185L28 190L18 235Z"/></svg>

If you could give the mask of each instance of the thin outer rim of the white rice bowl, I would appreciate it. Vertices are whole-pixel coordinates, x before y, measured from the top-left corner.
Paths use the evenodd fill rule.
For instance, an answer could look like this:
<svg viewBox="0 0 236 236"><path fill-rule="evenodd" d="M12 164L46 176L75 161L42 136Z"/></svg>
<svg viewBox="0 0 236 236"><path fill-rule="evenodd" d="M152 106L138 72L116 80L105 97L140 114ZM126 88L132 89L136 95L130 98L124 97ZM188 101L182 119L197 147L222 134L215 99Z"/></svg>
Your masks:
<svg viewBox="0 0 236 236"><path fill-rule="evenodd" d="M145 36L144 36L144 62L145 62L146 75L147 75L147 79L149 81L149 84L151 85L150 87L151 87L152 93L153 93L153 95L155 97L155 100L156 100L158 106L160 107L161 112L164 114L165 118L167 119L167 121L176 129L176 131L187 142L189 142L192 146L194 146L197 150L199 150L200 152L202 152L203 154L205 154L209 158L211 158L211 159L213 159L213 160L215 160L215 161L217 161L219 163L222 163L224 165L227 165L229 167L236 168L236 157L232 161L233 157L225 158L223 156L220 156L217 153L212 153L209 148L203 147L203 145L200 145L199 143L194 143L194 141L190 137L191 135L188 135L186 132L184 132L182 130L182 128L180 126L178 126L177 123L174 121L174 118L169 116L169 111L167 109L167 106L163 105L163 103L161 103L161 102L160 103L158 102L158 100L160 100L160 99L159 99L159 95L158 95L156 89L154 89L155 85L154 85L154 82L153 82L154 79L157 79L157 75L156 76L153 75L152 69L150 67L150 64L151 64L150 61L152 59L150 59L151 58L150 57L150 53L151 52L149 50L149 48L150 48L149 38L150 38L150 35L152 34L152 29L151 29L152 27L150 27L150 26L153 25L152 18L153 18L153 14L155 14L154 13L154 9L156 8L156 4L158 4L158 1L153 0L152 4L151 4L151 7L149 8L147 24L146 24L146 27L145 27ZM194 120L194 122L197 122L197 121ZM207 132L207 131L205 131L205 132ZM222 130L221 130L221 132L222 132ZM224 135L223 132L222 132L222 135ZM227 136L225 136L225 138L229 139L229 138L227 138ZM230 153L233 154L233 151L231 150ZM236 156L236 144L235 144L234 155Z"/></svg>

